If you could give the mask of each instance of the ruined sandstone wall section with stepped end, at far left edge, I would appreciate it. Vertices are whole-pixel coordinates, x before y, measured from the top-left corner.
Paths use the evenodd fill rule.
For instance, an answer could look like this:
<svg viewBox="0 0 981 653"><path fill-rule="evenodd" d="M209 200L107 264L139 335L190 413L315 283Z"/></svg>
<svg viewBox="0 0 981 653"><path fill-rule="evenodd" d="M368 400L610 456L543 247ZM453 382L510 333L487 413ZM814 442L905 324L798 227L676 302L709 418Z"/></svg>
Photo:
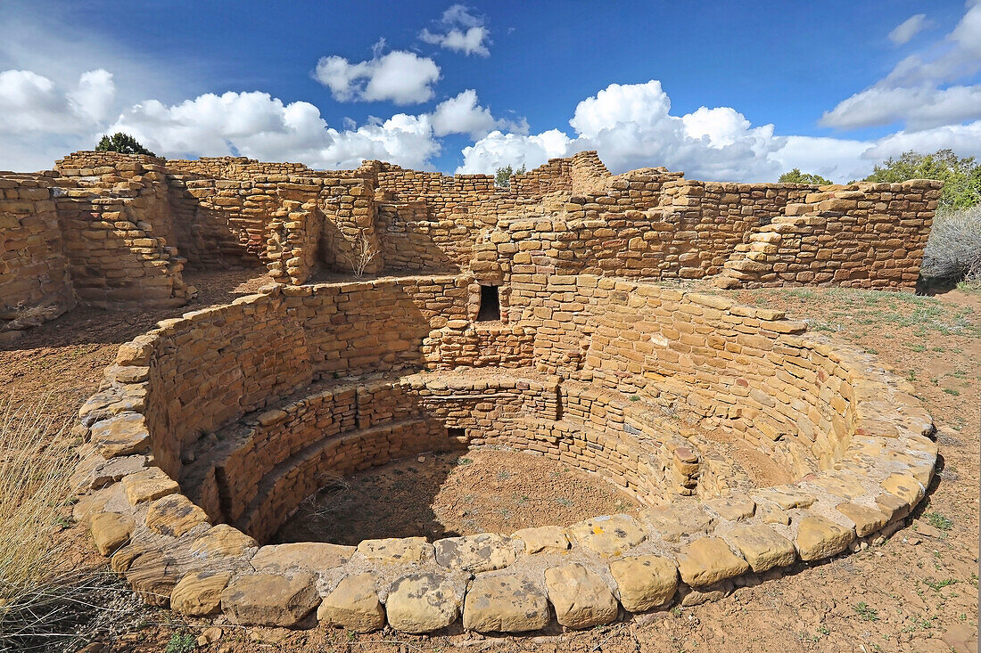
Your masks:
<svg viewBox="0 0 981 653"><path fill-rule="evenodd" d="M16 335L76 304L187 300L161 163L98 153L0 174L0 328Z"/></svg>

